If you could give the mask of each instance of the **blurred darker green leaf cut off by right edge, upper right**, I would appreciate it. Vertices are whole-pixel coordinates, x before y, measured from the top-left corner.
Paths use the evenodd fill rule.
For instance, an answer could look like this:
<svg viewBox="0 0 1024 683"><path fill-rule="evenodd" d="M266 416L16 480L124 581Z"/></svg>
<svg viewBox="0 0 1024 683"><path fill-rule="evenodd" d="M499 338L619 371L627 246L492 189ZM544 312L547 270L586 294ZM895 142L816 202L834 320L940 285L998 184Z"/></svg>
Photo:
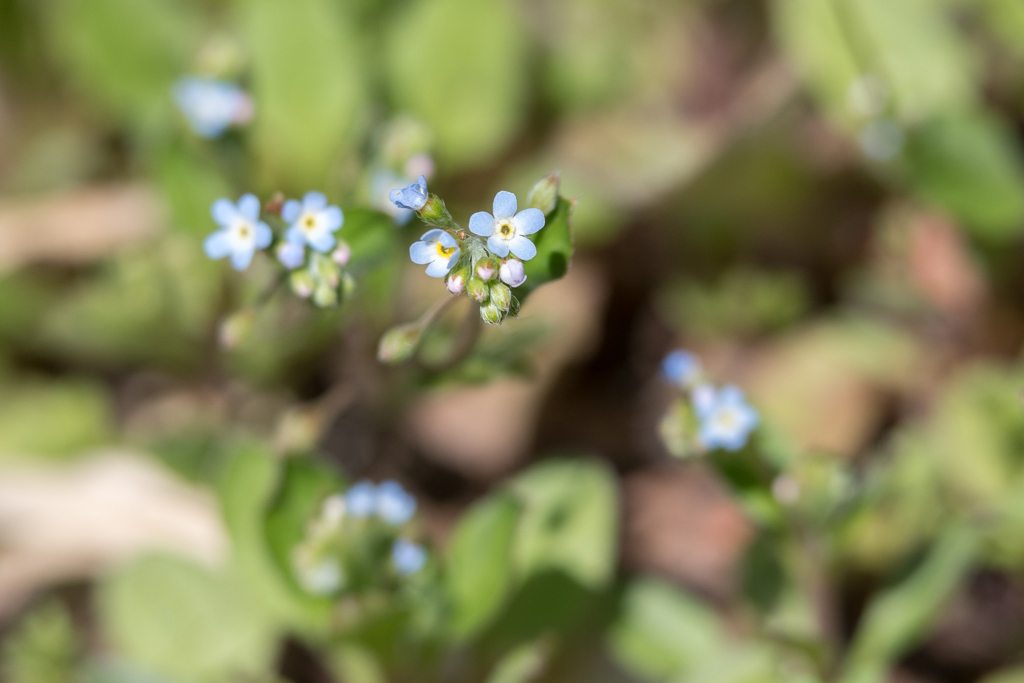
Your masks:
<svg viewBox="0 0 1024 683"><path fill-rule="evenodd" d="M932 121L909 139L910 183L978 237L1024 230L1024 159L1014 133L990 116Z"/></svg>

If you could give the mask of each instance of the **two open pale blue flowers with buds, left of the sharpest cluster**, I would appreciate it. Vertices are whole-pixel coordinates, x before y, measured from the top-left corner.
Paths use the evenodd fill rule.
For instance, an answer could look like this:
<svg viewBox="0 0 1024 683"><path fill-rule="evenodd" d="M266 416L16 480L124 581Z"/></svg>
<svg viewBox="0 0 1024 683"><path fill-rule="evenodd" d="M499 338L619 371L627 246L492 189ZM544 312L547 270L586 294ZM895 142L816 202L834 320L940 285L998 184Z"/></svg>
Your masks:
<svg viewBox="0 0 1024 683"><path fill-rule="evenodd" d="M354 289L355 281L345 270L352 251L335 237L345 216L322 193L306 193L301 201L272 201L266 207L254 195L243 196L237 204L219 199L210 211L220 225L203 245L210 258L228 258L236 270L245 270L256 252L271 251L288 269L292 291L321 307L338 305ZM278 224L276 232L264 217Z"/></svg>

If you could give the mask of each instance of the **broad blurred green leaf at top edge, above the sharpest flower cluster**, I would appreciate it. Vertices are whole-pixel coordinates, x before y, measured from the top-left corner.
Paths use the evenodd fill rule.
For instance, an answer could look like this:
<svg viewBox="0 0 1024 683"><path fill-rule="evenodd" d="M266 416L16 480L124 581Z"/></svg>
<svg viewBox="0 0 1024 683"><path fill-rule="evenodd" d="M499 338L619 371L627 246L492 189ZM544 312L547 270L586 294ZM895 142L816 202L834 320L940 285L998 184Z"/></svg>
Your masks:
<svg viewBox="0 0 1024 683"><path fill-rule="evenodd" d="M412 0L394 17L391 96L434 130L445 168L486 160L516 132L528 45L509 0Z"/></svg>

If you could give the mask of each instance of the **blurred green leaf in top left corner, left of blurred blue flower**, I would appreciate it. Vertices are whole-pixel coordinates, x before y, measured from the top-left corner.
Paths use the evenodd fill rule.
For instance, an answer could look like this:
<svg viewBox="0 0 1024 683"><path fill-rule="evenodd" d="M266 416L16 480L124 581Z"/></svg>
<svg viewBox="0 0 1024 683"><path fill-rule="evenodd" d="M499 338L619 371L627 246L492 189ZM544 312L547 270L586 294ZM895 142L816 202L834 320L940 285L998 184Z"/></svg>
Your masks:
<svg viewBox="0 0 1024 683"><path fill-rule="evenodd" d="M169 108L171 85L188 71L198 42L189 4L59 0L50 11L50 47L86 94L136 122Z"/></svg>

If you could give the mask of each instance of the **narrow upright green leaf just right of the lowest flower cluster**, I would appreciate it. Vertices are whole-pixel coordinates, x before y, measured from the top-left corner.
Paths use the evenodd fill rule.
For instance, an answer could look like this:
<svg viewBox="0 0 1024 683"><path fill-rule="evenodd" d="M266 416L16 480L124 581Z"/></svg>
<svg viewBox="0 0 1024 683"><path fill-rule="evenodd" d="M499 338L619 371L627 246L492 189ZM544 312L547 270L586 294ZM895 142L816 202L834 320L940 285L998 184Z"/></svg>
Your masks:
<svg viewBox="0 0 1024 683"><path fill-rule="evenodd" d="M475 634L505 603L512 584L512 541L519 504L507 495L473 506L459 521L445 577L457 638Z"/></svg>

